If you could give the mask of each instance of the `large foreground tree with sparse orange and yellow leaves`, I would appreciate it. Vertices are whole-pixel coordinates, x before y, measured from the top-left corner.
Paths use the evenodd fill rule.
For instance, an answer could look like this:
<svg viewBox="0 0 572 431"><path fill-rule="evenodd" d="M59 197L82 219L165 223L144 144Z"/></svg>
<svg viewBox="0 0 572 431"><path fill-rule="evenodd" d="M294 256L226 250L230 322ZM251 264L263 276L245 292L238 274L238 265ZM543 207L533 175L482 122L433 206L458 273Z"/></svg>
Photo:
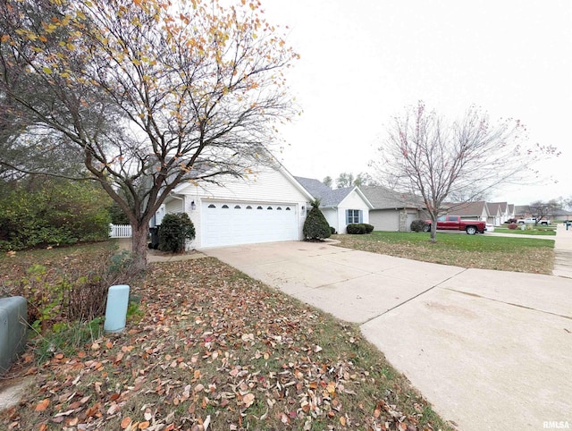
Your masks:
<svg viewBox="0 0 572 431"><path fill-rule="evenodd" d="M283 71L298 55L259 2L229 3L0 5L0 92L27 131L17 145L81 157L83 172L67 176L99 182L122 207L139 268L148 222L174 187L250 173L292 113Z"/></svg>

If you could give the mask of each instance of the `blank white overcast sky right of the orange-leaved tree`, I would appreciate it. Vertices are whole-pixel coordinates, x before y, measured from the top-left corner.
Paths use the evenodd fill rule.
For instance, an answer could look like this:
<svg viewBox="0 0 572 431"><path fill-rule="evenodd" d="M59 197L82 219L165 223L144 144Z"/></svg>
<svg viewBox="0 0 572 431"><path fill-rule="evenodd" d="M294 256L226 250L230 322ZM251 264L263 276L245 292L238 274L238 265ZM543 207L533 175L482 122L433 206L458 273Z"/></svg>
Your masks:
<svg viewBox="0 0 572 431"><path fill-rule="evenodd" d="M570 0L262 0L301 55L289 72L303 114L282 128L294 175L369 172L392 115L418 100L456 116L482 106L554 145L539 186L500 188L517 205L572 196ZM551 176L551 181L548 177Z"/></svg>

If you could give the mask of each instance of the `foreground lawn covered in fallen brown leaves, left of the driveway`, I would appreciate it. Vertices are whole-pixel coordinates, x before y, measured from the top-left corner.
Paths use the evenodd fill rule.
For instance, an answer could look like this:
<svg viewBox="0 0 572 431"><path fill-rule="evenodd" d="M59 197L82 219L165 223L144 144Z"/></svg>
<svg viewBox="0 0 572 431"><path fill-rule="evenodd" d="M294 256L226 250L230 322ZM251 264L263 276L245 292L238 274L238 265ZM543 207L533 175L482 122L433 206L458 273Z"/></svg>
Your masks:
<svg viewBox="0 0 572 431"><path fill-rule="evenodd" d="M4 292L32 263L48 278L87 271L105 247L4 255ZM356 325L217 259L153 264L130 285L122 334L60 325L30 339L8 376L35 384L3 429L450 429Z"/></svg>

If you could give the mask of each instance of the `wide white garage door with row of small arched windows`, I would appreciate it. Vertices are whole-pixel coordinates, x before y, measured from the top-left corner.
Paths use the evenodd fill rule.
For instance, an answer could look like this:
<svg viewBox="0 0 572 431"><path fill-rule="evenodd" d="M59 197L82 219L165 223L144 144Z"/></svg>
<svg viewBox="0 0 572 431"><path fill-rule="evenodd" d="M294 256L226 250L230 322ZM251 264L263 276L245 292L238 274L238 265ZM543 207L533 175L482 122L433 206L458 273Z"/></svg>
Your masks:
<svg viewBox="0 0 572 431"><path fill-rule="evenodd" d="M292 204L204 202L202 247L298 240Z"/></svg>

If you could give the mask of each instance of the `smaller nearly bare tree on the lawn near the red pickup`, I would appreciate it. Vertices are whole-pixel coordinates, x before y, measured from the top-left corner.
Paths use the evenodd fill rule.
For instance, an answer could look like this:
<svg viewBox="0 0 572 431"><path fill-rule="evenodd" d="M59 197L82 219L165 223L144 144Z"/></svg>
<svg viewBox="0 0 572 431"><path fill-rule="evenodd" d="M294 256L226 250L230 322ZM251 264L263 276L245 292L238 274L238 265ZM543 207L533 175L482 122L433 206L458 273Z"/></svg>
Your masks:
<svg viewBox="0 0 572 431"><path fill-rule="evenodd" d="M526 143L518 120L492 123L474 106L454 122L445 121L423 102L393 119L379 158L372 162L384 185L423 198L432 220L446 209L445 199L475 200L505 182L535 176L539 157L557 155L556 148Z"/></svg>

